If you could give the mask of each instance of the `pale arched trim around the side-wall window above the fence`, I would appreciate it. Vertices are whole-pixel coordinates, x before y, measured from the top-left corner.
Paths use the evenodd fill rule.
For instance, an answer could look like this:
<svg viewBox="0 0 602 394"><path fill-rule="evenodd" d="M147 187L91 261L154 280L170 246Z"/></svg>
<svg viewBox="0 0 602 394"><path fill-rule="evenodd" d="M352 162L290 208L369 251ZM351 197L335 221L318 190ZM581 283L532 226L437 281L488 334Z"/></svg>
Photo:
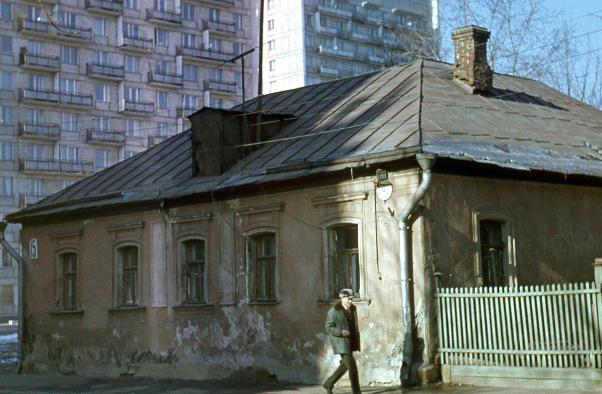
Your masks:
<svg viewBox="0 0 602 394"><path fill-rule="evenodd" d="M475 245L474 276L477 286L483 286L483 272L480 251L480 221L482 220L495 220L502 223L501 232L504 241L503 258L506 286L518 286L514 218L506 214L506 212L494 210L473 212L473 244Z"/></svg>

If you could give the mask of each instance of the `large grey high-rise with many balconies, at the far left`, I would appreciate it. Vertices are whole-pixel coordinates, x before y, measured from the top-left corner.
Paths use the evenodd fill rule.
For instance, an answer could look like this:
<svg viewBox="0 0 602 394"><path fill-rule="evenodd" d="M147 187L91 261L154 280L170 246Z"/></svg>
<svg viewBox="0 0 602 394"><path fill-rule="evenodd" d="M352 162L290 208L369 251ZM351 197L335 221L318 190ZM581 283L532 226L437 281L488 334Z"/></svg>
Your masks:
<svg viewBox="0 0 602 394"><path fill-rule="evenodd" d="M0 215L187 129L197 108L240 102L229 60L256 46L257 3L0 1ZM18 250L19 229L5 235ZM16 315L16 263L0 253L0 316Z"/></svg>

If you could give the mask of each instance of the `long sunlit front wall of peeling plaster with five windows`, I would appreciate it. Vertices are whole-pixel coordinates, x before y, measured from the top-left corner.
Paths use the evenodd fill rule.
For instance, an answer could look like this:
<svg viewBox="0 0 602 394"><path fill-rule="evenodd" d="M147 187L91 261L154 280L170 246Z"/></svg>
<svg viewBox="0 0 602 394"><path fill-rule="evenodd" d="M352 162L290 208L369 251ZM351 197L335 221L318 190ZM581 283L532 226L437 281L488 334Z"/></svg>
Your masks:
<svg viewBox="0 0 602 394"><path fill-rule="evenodd" d="M40 256L31 260L26 277L30 340L25 368L82 375L322 383L339 357L332 353L324 330L333 303L324 300L321 228L337 220L356 220L362 237L357 303L362 352L356 357L361 382L399 383L403 327L396 215L419 179L414 171L389 176L394 194L386 202L377 200L376 224L370 177L218 205L24 226L23 250L29 239L37 238ZM253 304L244 236L266 228L276 229L278 237L278 303ZM421 224L415 224L415 265L424 260L420 229ZM57 238L57 233L73 232L77 235ZM178 242L188 236L206 240L208 304L202 307L181 303ZM140 308L132 310L116 309L114 300L114 248L124 240L140 247ZM58 311L54 303L57 253L63 244L78 253L76 313ZM164 262L157 245L165 248ZM157 280L163 275L166 282L161 285ZM417 302L422 302L420 297Z"/></svg>

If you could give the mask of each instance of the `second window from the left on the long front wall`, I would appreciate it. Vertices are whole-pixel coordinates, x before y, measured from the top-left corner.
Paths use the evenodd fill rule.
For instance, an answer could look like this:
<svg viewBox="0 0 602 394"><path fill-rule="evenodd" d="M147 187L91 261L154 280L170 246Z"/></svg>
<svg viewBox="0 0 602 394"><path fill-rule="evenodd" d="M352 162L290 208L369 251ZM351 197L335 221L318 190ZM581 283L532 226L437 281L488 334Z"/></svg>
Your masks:
<svg viewBox="0 0 602 394"><path fill-rule="evenodd" d="M117 306L138 305L138 247L117 248Z"/></svg>

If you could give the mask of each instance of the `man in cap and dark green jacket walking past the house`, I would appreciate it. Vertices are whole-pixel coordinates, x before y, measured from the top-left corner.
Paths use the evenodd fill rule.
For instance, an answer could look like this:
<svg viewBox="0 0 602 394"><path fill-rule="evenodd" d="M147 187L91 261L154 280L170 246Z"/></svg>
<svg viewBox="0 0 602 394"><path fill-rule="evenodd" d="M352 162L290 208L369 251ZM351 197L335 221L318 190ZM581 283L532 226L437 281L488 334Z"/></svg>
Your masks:
<svg viewBox="0 0 602 394"><path fill-rule="evenodd" d="M327 394L332 394L332 387L349 371L349 380L353 394L361 394L359 389L358 366L353 352L359 351L358 313L353 305L353 290L343 289L339 292L339 301L330 308L326 316L326 331L330 334L332 351L341 355L341 365L334 374L324 382Z"/></svg>

